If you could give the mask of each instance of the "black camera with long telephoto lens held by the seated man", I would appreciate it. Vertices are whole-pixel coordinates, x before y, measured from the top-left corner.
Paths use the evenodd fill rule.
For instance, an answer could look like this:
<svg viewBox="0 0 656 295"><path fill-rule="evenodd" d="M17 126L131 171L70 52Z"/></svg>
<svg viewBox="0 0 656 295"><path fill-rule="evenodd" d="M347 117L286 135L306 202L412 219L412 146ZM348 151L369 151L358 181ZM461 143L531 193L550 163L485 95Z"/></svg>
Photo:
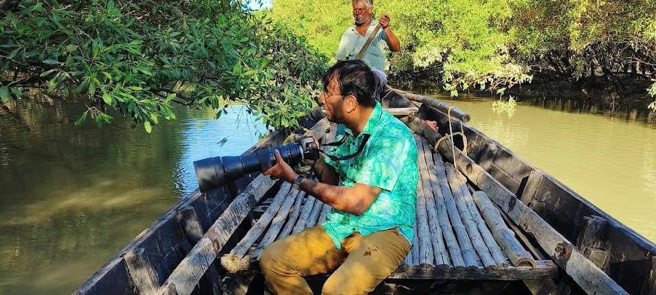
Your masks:
<svg viewBox="0 0 656 295"><path fill-rule="evenodd" d="M226 182L246 174L266 171L276 165L275 150L280 152L283 160L289 165L296 165L305 159L315 161L319 158L319 147L312 137L300 137L295 143L257 150L244 156L204 158L194 162L200 191L206 192L221 187Z"/></svg>

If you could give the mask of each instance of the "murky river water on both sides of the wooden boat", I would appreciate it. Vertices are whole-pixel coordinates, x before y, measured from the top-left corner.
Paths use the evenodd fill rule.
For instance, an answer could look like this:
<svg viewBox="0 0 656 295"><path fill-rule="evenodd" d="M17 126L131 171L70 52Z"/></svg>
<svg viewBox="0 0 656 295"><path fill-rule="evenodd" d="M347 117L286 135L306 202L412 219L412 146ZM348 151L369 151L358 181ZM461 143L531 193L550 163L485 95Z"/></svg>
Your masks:
<svg viewBox="0 0 656 295"><path fill-rule="evenodd" d="M656 240L655 115L539 101L496 113L490 99L435 96ZM241 106L219 120L212 110L178 107L177 119L152 134L121 120L75 128L81 112L39 95L0 106L0 294L72 292L196 189L193 161L241 154L265 132Z"/></svg>

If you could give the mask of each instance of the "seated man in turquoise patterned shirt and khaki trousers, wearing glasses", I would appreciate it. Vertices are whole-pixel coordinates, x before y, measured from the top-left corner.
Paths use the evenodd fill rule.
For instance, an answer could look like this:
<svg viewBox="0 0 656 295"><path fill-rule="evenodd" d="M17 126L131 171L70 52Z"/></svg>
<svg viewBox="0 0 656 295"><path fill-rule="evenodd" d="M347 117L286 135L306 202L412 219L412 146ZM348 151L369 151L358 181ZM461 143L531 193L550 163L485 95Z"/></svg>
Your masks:
<svg viewBox="0 0 656 295"><path fill-rule="evenodd" d="M320 182L298 176L276 150L265 175L293 182L333 207L327 221L265 248L260 258L276 294L312 294L303 276L333 272L322 294L367 294L408 255L417 196L417 149L408 128L376 102L364 62L338 62L319 102L339 123L338 145L314 164Z"/></svg>

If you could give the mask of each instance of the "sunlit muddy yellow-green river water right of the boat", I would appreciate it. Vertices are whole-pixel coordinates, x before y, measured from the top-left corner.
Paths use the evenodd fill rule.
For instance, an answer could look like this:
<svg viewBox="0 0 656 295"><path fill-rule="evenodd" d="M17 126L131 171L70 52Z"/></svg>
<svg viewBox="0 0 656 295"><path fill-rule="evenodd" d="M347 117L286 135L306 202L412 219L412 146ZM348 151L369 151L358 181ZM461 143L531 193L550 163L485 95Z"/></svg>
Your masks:
<svg viewBox="0 0 656 295"><path fill-rule="evenodd" d="M613 111L524 99L509 114L495 113L489 98L432 96L465 110L470 125L656 241L656 121L646 105Z"/></svg>

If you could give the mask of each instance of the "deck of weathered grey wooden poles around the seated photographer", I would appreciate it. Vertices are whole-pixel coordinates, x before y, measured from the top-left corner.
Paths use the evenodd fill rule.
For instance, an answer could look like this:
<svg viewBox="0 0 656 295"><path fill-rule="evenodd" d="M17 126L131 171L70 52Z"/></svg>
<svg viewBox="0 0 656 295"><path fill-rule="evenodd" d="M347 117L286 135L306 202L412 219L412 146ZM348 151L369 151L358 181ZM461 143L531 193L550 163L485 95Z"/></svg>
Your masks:
<svg viewBox="0 0 656 295"><path fill-rule="evenodd" d="M334 128L323 141L334 139ZM413 249L389 279L539 280L558 276L553 261L529 255L531 263L513 265L508 257L527 254L507 224L490 224L472 199L466 178L434 154L426 139L415 135L419 154L417 220ZM287 185L262 217L230 252L245 257L245 273L259 272L261 250L276 239L325 221L331 207ZM495 208L495 210L498 210ZM266 231L263 231L263 227ZM510 233L493 235L492 233ZM508 241L510 240L510 241ZM520 248L507 247L508 243ZM510 251L510 252L509 252ZM515 252L513 252L515 251Z"/></svg>

